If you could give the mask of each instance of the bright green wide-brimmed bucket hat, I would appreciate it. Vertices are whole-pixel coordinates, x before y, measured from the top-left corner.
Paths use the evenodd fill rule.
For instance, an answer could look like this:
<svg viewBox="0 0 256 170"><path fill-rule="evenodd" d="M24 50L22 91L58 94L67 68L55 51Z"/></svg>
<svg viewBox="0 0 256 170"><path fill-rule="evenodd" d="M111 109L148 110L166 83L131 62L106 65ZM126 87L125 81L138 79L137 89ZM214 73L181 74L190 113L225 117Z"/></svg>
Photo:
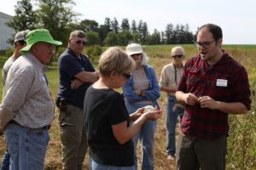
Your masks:
<svg viewBox="0 0 256 170"><path fill-rule="evenodd" d="M26 34L26 47L20 49L20 54L26 54L36 42L48 42L54 45L62 44L62 42L55 41L46 29L32 30Z"/></svg>

